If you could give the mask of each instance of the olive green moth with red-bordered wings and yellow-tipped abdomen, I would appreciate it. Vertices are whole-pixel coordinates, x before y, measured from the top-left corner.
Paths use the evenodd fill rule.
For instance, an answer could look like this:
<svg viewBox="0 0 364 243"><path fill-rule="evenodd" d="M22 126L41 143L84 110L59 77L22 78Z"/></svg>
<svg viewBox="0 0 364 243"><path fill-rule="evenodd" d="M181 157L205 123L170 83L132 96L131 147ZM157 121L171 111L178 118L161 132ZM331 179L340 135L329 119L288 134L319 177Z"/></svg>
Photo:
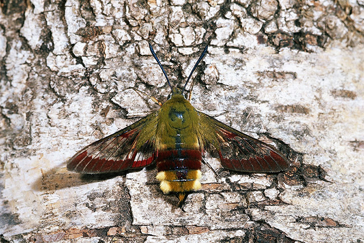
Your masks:
<svg viewBox="0 0 364 243"><path fill-rule="evenodd" d="M188 193L201 187L201 161L211 145L228 170L272 173L289 167L289 161L276 148L196 110L184 97L207 46L182 90L172 88L152 45L149 47L172 91L169 100L160 103L158 111L77 152L67 162L69 171L99 174L156 164L161 190L176 193L181 207Z"/></svg>

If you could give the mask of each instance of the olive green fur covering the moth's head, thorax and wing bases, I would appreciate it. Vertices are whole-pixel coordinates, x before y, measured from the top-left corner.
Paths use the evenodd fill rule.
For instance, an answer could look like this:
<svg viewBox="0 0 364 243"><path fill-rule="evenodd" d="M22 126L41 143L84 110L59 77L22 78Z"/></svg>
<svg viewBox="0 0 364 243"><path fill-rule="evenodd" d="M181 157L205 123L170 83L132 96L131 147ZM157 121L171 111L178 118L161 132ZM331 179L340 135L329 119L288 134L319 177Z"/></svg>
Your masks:
<svg viewBox="0 0 364 243"><path fill-rule="evenodd" d="M171 109L184 112L183 124L181 119L175 121L170 119ZM144 127L140 131L136 149L150 139L155 139L154 144L157 150L175 149L177 132L181 134L182 148L203 150L205 143L219 148L219 140L211 126L213 120L208 115L197 111L180 90L174 89L171 98L158 111L142 119Z"/></svg>

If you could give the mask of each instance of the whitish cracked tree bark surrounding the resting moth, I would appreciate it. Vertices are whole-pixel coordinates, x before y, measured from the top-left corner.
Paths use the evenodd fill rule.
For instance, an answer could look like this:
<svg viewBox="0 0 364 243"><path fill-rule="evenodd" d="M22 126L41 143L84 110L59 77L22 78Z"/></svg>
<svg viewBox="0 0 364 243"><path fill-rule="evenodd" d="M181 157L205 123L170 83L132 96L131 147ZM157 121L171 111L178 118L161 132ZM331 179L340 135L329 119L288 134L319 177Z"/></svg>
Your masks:
<svg viewBox="0 0 364 243"><path fill-rule="evenodd" d="M1 242L363 242L362 0L0 3ZM183 209L155 168L80 176L85 145L158 109L201 50L191 103L278 147L280 174L213 152ZM189 89L190 86L188 86Z"/></svg>

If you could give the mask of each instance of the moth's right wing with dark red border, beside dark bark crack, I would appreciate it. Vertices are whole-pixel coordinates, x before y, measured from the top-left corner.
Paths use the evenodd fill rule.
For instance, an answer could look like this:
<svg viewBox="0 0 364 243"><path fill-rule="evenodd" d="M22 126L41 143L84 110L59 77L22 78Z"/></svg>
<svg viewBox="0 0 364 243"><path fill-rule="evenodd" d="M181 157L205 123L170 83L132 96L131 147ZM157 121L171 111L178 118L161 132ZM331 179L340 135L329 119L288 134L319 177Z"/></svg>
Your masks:
<svg viewBox="0 0 364 243"><path fill-rule="evenodd" d="M280 172L289 161L276 148L199 112L201 136L219 153L224 168L253 173Z"/></svg>

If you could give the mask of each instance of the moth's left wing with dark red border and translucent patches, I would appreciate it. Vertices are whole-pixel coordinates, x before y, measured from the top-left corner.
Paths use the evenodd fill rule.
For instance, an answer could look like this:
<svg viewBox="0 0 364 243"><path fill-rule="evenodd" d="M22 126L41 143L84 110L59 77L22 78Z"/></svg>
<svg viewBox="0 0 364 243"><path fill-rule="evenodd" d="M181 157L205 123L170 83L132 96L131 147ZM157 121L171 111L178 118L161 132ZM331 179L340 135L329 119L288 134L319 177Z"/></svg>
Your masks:
<svg viewBox="0 0 364 243"><path fill-rule="evenodd" d="M157 112L77 152L67 169L82 174L125 171L150 165L155 158Z"/></svg>

